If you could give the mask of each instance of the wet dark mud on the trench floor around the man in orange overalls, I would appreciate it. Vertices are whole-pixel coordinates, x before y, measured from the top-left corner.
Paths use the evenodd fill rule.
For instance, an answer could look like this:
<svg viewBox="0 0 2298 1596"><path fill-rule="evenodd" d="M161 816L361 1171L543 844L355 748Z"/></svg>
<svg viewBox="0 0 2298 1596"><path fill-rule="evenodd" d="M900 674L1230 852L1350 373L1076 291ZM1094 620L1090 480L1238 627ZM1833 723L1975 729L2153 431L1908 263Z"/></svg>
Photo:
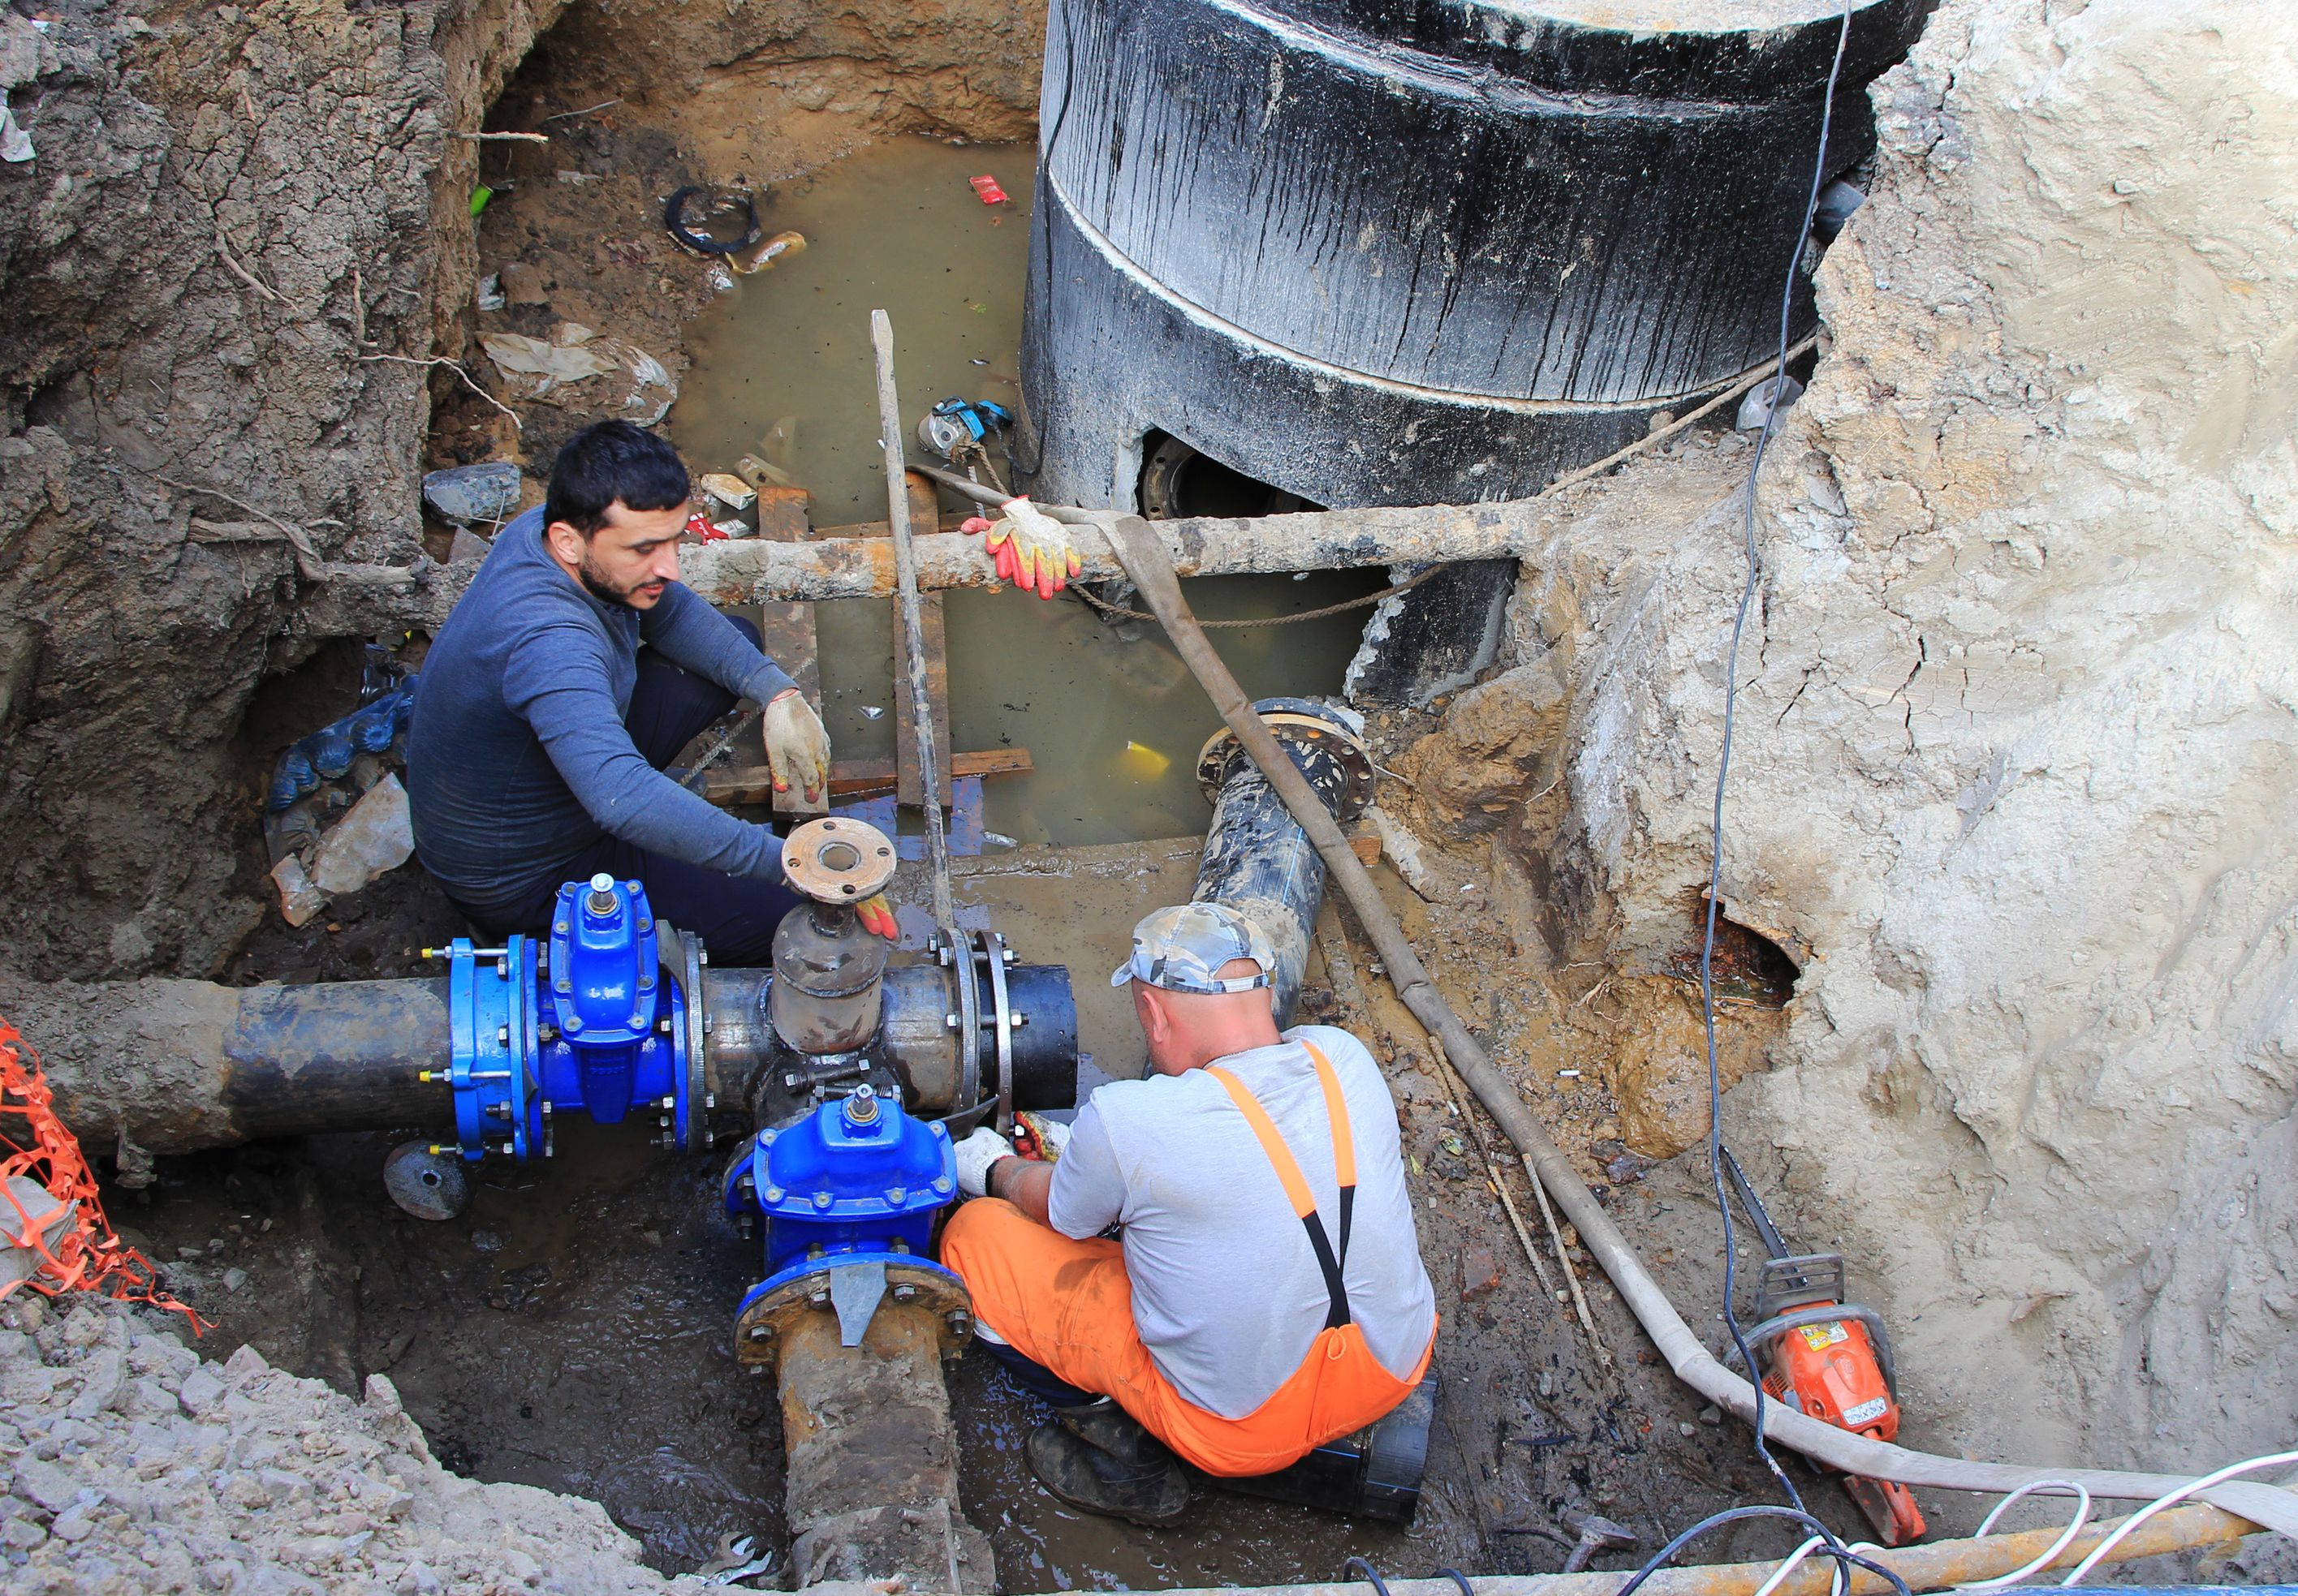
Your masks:
<svg viewBox="0 0 2298 1596"><path fill-rule="evenodd" d="M961 861L965 919L995 923L1023 958L1071 967L1094 1054L1087 1086L1142 1068L1128 1004L1105 971L1142 912L1186 898L1195 859L1197 840L1174 838ZM1570 1008L1551 1013L1542 955L1487 939L1480 960L1466 958L1478 946L1466 912L1422 905L1379 875L1455 1001L1494 1029L1526 1093L1602 1178L1602 1150L1590 1148L1609 1123L1604 1088L1553 1079L1556 1061L1574 1056L1579 1020ZM315 923L257 939L244 974L267 974L264 960L329 976L414 969L407 951L441 935L444 902L418 873L391 880L404 891L338 921L342 930ZM924 898L915 868L896 898ZM1321 946L1335 935L1351 948L1360 987L1312 958L1303 1017L1344 1024L1383 1056L1443 1314L1443 1385L1418 1518L1409 1527L1356 1523L1220 1490L1200 1493L1167 1529L1075 1513L1023 1461L1023 1440L1043 1417L1034 1399L988 1359L961 1357L947 1378L963 1502L997 1552L1000 1589L1287 1582L1333 1575L1351 1555L1411 1575L1551 1571L1563 1562L1558 1536L1570 1539L1565 1509L1629 1523L1650 1548L1701 1511L1763 1495L1744 1431L1703 1419L1574 1254L1613 1357L1611 1369L1597 1364L1570 1304L1533 1279L1507 1226L1494 1171L1478 1155L1478 1134L1498 1146L1496 1130L1473 1132L1445 1100L1363 942L1328 907ZM170 1286L216 1320L218 1350L250 1341L349 1392L368 1373L388 1373L450 1467L588 1495L664 1571L699 1566L738 1532L781 1545L781 1415L772 1382L742 1373L728 1341L758 1258L717 1213L717 1160L660 1153L632 1128L570 1121L554 1160L489 1160L464 1215L421 1222L384 1194L393 1141L317 1137L163 1160L154 1187L113 1201ZM1611 1201L1632 1233L1680 1224L1684 1258L1661 1252L1661 1261L1689 1268L1705 1233L1698 1185L1680 1164L1648 1169L1609 1187ZM1519 1213L1537 1213L1505 1162L1498 1178ZM1553 1254L1544 1263L1553 1277ZM1806 1488L1829 1520L1857 1529L1825 1481ZM1769 1545L1763 1536L1719 1541L1714 1555L1756 1555ZM1634 1562L1622 1552L1597 1566Z"/></svg>

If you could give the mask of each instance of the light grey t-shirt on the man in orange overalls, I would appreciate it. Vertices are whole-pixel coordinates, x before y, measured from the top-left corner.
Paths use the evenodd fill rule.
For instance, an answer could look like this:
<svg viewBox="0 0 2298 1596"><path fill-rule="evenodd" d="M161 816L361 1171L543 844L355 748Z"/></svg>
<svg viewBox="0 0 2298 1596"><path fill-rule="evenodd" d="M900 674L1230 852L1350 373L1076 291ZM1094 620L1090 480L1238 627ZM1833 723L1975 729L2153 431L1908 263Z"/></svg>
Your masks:
<svg viewBox="0 0 2298 1596"><path fill-rule="evenodd" d="M1291 1148L1326 1238L1340 1249L1333 1130L1314 1043L1340 1077L1356 1137L1349 1219L1349 1314L1374 1359L1399 1380L1436 1325L1436 1293L1404 1192L1397 1105L1372 1054L1331 1026L1298 1026L1273 1047L1220 1059L1259 1098ZM1275 1167L1243 1111L1204 1070L1110 1082L1078 1111L1052 1169L1052 1229L1124 1226L1133 1323L1156 1366L1193 1405L1243 1419L1308 1357L1331 1311L1324 1272Z"/></svg>

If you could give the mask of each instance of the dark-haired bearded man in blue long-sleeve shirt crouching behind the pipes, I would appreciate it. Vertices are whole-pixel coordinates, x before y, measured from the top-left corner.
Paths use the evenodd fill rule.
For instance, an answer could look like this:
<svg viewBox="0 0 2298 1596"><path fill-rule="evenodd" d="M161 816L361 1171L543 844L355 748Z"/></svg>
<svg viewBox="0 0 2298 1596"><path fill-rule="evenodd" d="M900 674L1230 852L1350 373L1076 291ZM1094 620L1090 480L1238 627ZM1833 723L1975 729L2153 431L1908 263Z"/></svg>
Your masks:
<svg viewBox="0 0 2298 1596"><path fill-rule="evenodd" d="M830 781L830 735L756 629L678 581L685 524L678 450L623 420L577 432L423 661L416 854L487 935L542 928L563 882L604 870L643 882L655 914L719 960L754 964L797 902L768 827L662 774L749 698L774 788L816 797ZM894 930L882 900L864 923Z"/></svg>

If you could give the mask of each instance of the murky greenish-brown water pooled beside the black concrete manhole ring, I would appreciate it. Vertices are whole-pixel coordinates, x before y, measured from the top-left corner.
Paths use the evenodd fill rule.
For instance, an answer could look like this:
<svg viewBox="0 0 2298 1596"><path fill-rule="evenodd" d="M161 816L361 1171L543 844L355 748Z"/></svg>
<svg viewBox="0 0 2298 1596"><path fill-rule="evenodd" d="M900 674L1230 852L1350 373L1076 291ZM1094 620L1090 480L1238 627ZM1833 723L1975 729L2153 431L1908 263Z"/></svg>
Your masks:
<svg viewBox="0 0 2298 1596"><path fill-rule="evenodd" d="M967 177L995 175L1011 204L984 207ZM740 278L687 331L694 367L671 429L696 468L751 452L813 496L813 524L885 519L869 312L894 321L903 416L942 397L1016 404L1032 163L1025 147L901 138L777 188L768 232L804 255ZM905 441L910 448L910 441ZM1004 471L1004 462L997 462ZM1193 581L1204 618L1319 609L1377 588L1365 572ZM986 827L1018 843L1110 843L1204 829L1195 758L1218 716L1156 627L1121 638L1080 602L954 592L954 746L1023 746L1036 769L986 788ZM1275 629L1216 632L1252 696L1340 687L1365 611ZM841 756L894 749L894 625L887 604L816 609L823 710ZM1128 627L1128 632L1133 632Z"/></svg>

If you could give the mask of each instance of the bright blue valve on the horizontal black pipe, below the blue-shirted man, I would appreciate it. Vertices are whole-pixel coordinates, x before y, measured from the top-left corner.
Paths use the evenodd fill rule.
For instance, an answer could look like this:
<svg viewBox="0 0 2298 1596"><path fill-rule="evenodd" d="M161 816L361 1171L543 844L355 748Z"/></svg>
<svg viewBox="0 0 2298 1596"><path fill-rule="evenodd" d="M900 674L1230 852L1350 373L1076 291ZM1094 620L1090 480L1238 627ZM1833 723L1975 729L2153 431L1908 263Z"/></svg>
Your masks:
<svg viewBox="0 0 2298 1596"><path fill-rule="evenodd" d="M692 1116L703 1111L687 1091L687 1013L678 981L660 967L639 882L561 886L547 964L533 937L510 937L492 955L457 937L448 1010L448 1086L466 1160L506 1144L512 1157L540 1155L545 1105L611 1125L634 1102L669 1100L687 1146Z"/></svg>

